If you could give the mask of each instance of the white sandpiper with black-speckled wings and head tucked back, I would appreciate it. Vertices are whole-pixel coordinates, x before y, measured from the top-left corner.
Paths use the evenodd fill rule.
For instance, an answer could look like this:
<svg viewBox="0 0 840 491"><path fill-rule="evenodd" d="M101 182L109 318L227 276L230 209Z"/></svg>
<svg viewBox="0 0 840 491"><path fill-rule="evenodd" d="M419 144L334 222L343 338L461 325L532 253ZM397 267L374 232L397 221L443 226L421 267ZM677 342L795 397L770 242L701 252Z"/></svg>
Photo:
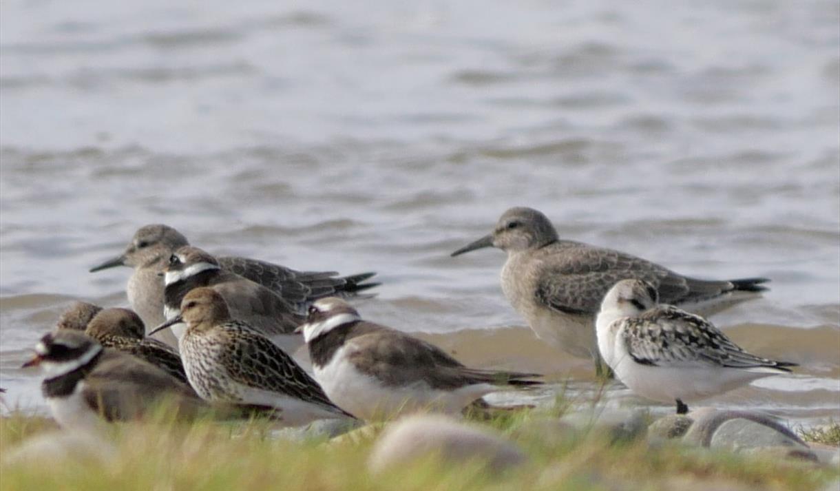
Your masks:
<svg viewBox="0 0 840 491"><path fill-rule="evenodd" d="M648 399L676 402L724 393L795 363L755 356L699 315L657 306L656 288L622 280L606 293L597 318L598 347L616 377Z"/></svg>

